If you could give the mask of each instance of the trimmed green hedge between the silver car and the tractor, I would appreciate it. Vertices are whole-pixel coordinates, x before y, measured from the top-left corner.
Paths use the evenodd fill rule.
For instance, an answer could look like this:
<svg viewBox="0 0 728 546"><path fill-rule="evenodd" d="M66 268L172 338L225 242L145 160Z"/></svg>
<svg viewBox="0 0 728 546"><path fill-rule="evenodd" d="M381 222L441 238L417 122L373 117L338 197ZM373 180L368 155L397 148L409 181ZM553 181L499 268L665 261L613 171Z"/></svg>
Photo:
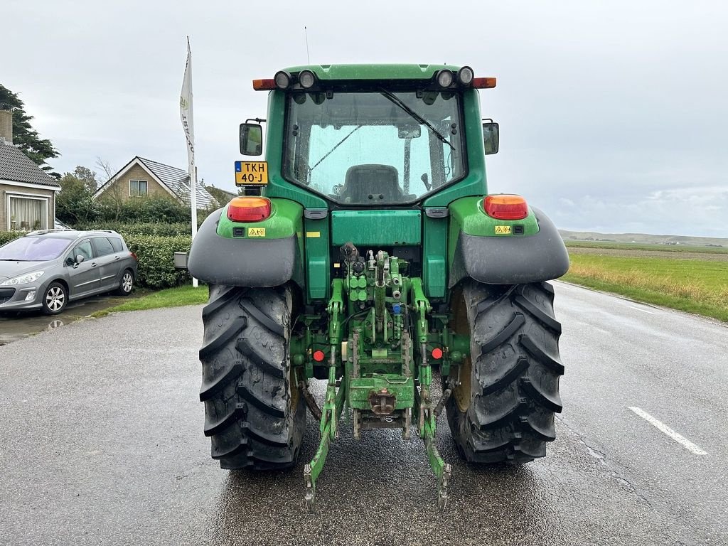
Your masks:
<svg viewBox="0 0 728 546"><path fill-rule="evenodd" d="M130 235L124 237L129 250L139 261L137 282L147 288L172 288L191 282L185 269L175 269L174 253L189 253L192 238L189 235L160 237Z"/></svg>

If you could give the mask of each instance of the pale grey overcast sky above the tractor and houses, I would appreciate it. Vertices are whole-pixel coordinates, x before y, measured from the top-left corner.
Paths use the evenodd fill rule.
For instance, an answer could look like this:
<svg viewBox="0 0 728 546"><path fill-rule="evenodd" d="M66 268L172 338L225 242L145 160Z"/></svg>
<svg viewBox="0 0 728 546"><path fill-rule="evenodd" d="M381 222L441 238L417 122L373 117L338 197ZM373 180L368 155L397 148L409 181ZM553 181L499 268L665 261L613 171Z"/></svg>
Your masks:
<svg viewBox="0 0 728 546"><path fill-rule="evenodd" d="M315 5L312 9L311 7ZM728 4L721 1L4 0L0 83L59 172L135 155L186 168L189 34L197 165L234 189L251 80L306 63L467 64L496 76L488 191L562 229L728 237Z"/></svg>

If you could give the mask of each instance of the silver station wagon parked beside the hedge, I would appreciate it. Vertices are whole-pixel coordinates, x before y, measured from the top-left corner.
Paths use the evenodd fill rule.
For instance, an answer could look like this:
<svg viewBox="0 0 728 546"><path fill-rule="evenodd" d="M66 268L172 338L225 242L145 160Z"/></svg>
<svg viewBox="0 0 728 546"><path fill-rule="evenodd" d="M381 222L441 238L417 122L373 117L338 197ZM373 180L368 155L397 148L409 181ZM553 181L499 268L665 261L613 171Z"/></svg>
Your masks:
<svg viewBox="0 0 728 546"><path fill-rule="evenodd" d="M136 256L116 232L31 232L0 247L0 312L58 314L95 294L128 296L136 276Z"/></svg>

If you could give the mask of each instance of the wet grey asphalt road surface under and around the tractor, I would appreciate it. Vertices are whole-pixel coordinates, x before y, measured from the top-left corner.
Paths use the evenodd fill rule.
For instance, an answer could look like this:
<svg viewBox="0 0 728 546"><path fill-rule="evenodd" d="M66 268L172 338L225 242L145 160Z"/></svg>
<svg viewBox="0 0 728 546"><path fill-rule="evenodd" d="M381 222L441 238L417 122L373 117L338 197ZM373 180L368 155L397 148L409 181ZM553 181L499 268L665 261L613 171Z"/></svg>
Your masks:
<svg viewBox="0 0 728 546"><path fill-rule="evenodd" d="M199 306L0 347L0 544L727 544L728 328L561 283L556 301L557 440L523 467L471 467L442 416L444 513L421 441L393 431L356 443L344 427L315 515L301 477L312 419L295 470L220 470L197 401Z"/></svg>

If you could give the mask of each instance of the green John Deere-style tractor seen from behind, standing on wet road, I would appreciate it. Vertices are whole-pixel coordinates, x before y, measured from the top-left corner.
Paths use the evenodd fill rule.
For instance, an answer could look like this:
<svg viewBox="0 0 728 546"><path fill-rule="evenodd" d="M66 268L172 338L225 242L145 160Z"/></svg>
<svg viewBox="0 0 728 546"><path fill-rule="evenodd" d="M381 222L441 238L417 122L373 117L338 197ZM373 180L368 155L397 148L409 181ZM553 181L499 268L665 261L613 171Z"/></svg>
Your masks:
<svg viewBox="0 0 728 546"><path fill-rule="evenodd" d="M320 422L311 510L344 423L357 439L422 438L440 507L443 409L467 462L545 455L563 373L545 281L569 258L523 197L488 195L498 125L480 118L478 89L491 87L446 65L296 66L253 81L268 116L241 124L240 153L262 154L266 122L266 161L236 162L242 195L202 223L188 263L210 285L199 398L221 467L293 466L307 411ZM327 381L323 407L312 379Z"/></svg>

